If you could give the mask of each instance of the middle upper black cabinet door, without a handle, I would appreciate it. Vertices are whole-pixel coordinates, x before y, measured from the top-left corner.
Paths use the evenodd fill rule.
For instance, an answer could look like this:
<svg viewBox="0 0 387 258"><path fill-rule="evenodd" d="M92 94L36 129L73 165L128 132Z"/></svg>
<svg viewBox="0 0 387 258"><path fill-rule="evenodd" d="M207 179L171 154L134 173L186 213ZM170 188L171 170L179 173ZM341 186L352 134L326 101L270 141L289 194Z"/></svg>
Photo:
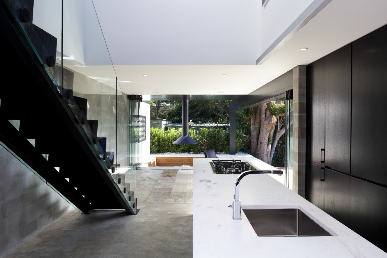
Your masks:
<svg viewBox="0 0 387 258"><path fill-rule="evenodd" d="M326 56L325 166L350 173L351 44Z"/></svg>

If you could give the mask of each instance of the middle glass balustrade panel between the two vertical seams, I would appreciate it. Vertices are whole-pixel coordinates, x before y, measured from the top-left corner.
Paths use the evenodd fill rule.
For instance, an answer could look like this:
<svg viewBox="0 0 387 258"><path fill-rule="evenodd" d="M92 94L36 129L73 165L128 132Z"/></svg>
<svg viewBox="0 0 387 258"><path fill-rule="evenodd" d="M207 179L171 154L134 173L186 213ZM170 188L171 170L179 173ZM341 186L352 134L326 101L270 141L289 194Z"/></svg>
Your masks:
<svg viewBox="0 0 387 258"><path fill-rule="evenodd" d="M116 74L91 0L63 1L60 55L63 97L111 170L117 153Z"/></svg>

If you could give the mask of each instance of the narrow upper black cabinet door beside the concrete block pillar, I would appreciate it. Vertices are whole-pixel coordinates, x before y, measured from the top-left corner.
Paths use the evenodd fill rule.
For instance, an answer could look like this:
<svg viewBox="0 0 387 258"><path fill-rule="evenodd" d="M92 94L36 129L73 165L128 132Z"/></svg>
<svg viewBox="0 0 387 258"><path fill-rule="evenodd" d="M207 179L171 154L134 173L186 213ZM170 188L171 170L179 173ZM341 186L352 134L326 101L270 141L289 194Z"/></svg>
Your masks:
<svg viewBox="0 0 387 258"><path fill-rule="evenodd" d="M307 66L307 160L324 163L325 58Z"/></svg>

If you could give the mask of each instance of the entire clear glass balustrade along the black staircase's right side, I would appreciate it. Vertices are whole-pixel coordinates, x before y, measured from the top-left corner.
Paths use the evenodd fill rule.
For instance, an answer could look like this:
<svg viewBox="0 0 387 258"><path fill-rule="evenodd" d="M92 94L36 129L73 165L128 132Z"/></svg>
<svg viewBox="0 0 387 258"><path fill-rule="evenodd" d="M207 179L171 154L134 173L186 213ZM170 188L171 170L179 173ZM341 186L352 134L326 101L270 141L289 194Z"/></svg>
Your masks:
<svg viewBox="0 0 387 258"><path fill-rule="evenodd" d="M3 1L135 211L140 104L122 93L92 0Z"/></svg>

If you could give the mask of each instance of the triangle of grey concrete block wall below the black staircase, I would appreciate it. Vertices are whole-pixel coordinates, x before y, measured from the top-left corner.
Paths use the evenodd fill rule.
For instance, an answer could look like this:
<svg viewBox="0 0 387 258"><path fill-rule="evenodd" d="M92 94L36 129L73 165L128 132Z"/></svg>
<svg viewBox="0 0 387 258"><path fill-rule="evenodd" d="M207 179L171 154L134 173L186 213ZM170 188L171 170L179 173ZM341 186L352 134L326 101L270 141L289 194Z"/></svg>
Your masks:
<svg viewBox="0 0 387 258"><path fill-rule="evenodd" d="M67 201L0 145L0 256L70 208Z"/></svg>

